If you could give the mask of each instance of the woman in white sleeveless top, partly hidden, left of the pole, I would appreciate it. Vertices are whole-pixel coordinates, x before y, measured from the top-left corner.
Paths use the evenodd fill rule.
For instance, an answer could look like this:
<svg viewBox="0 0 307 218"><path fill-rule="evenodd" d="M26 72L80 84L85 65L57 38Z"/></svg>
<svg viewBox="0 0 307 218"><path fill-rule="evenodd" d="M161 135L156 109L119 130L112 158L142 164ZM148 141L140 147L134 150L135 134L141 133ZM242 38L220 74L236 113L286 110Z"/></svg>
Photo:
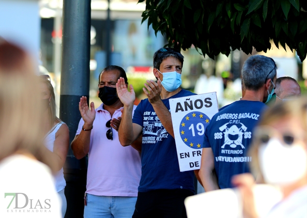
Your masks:
<svg viewBox="0 0 307 218"><path fill-rule="evenodd" d="M53 86L48 75L40 76L40 91L43 105L42 131L45 133L44 144L48 156L54 159L57 173L55 174L56 190L62 199L62 216L65 216L67 202L64 194L66 181L63 166L69 148L68 126L56 117L56 104Z"/></svg>

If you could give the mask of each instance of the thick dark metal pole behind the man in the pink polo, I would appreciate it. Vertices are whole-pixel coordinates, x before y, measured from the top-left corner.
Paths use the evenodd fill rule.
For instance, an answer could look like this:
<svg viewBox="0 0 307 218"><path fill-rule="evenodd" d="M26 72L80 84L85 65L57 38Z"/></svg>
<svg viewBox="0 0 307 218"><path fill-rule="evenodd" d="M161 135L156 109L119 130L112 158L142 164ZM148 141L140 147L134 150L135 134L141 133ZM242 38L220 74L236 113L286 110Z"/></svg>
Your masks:
<svg viewBox="0 0 307 218"><path fill-rule="evenodd" d="M70 142L81 118L78 102L89 97L91 0L63 0L60 119L69 127ZM77 160L68 151L64 176L65 218L82 218L86 186L86 158Z"/></svg>

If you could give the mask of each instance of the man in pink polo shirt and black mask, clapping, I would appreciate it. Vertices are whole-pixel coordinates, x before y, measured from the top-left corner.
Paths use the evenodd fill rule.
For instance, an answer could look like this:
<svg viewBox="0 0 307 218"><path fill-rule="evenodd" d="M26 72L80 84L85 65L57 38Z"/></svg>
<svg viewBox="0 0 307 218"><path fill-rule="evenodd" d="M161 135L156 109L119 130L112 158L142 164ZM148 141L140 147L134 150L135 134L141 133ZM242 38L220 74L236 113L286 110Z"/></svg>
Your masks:
<svg viewBox="0 0 307 218"><path fill-rule="evenodd" d="M110 65L100 73L99 98L103 103L97 109L93 102L89 108L86 97L80 98L82 118L71 147L77 159L89 155L84 218L131 218L135 209L140 149L137 144L123 147L119 142L123 103L117 97L116 82L120 77L127 85L122 67Z"/></svg>

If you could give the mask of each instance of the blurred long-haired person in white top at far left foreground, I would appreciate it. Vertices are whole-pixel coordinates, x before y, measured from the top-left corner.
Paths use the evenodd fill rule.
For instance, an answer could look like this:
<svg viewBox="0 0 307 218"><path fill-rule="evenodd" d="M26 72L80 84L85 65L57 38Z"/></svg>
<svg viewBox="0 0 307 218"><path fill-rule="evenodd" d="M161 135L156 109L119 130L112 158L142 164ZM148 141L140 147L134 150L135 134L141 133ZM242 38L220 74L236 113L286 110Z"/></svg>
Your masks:
<svg viewBox="0 0 307 218"><path fill-rule="evenodd" d="M50 171L56 167L42 141L35 71L24 50L0 42L0 217L62 217Z"/></svg>

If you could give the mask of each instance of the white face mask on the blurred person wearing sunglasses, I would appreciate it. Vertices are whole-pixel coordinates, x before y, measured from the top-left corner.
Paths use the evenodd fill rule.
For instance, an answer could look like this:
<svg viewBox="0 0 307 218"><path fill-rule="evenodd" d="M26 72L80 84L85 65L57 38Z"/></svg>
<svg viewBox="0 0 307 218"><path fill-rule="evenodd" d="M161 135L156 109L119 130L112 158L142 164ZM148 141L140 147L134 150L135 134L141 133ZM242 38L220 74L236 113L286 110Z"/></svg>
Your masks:
<svg viewBox="0 0 307 218"><path fill-rule="evenodd" d="M307 153L298 145L283 145L271 138L259 147L259 164L266 183L276 185L292 184L307 172Z"/></svg>

